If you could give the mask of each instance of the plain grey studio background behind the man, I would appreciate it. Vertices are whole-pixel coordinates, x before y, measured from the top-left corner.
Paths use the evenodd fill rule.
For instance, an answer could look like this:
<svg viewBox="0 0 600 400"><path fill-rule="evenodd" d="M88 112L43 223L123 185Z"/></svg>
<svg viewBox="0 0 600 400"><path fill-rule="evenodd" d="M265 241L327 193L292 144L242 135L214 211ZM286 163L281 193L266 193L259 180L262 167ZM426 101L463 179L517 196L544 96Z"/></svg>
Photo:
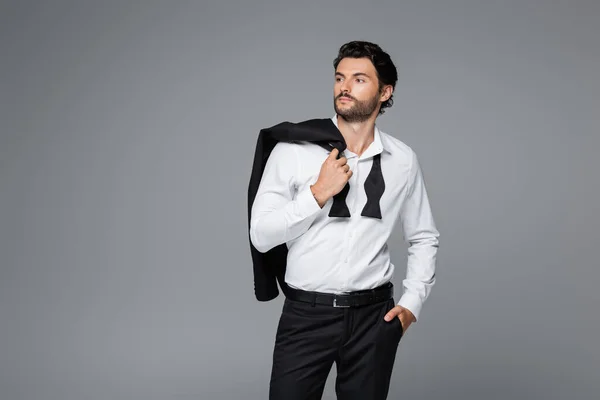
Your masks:
<svg viewBox="0 0 600 400"><path fill-rule="evenodd" d="M354 39L441 232L390 398L598 398L600 2L210 3L0 6L0 399L267 398L254 145L333 115Z"/></svg>

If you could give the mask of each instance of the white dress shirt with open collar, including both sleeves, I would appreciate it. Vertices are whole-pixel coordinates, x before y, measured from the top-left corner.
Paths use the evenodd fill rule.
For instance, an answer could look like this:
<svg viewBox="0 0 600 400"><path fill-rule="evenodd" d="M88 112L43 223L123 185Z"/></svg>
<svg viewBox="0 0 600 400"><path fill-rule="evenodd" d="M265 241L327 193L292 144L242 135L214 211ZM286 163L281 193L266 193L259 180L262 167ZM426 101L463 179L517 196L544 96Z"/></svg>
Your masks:
<svg viewBox="0 0 600 400"><path fill-rule="evenodd" d="M337 116L332 118L337 126ZM381 153L385 192L382 219L363 217L364 182ZM310 142L278 142L270 154L251 209L250 240L260 252L286 243L285 280L309 291L344 293L372 289L394 274L387 241L400 222L408 247L406 278L398 304L419 318L435 283L439 232L415 152L375 126L374 141L359 157L344 151L353 171L346 204L351 217L329 217L313 197L329 151Z"/></svg>

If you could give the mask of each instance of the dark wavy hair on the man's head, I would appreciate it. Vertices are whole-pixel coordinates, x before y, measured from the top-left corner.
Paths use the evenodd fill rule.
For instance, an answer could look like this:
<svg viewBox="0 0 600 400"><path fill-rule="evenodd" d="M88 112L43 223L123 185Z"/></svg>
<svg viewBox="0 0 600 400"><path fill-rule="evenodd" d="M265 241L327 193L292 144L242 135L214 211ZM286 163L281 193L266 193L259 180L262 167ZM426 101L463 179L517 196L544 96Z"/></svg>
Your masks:
<svg viewBox="0 0 600 400"><path fill-rule="evenodd" d="M340 61L346 57L368 58L371 60L377 71L379 90L381 90L384 85L392 85L392 88L396 88L396 82L398 81L398 71L396 71L396 66L392 62L389 54L383 51L381 47L375 43L355 40L343 44L339 49L338 56L333 60L333 67L337 69ZM381 103L379 114L383 114L385 112L384 108L389 108L394 104L392 97L394 97L393 94L389 99Z"/></svg>

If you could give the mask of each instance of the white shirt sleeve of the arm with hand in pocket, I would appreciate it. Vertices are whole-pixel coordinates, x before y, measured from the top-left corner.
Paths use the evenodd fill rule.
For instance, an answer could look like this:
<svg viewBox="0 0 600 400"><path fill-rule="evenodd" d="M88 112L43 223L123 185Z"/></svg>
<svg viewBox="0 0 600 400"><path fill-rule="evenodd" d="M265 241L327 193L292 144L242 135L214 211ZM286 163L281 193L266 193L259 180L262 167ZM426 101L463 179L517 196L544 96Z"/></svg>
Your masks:
<svg viewBox="0 0 600 400"><path fill-rule="evenodd" d="M409 247L406 278L402 281L404 293L398 305L409 309L418 320L423 303L435 284L439 232L431 212L423 173L414 151L407 194L400 217L404 239Z"/></svg>

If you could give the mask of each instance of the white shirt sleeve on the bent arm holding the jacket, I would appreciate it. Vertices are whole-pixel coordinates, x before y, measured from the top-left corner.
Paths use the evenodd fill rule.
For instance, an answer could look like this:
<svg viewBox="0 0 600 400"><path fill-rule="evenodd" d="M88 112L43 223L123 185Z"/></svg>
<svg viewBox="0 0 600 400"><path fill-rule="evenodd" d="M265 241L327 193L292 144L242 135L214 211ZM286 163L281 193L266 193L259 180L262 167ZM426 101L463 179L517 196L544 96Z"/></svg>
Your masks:
<svg viewBox="0 0 600 400"><path fill-rule="evenodd" d="M261 253L302 235L321 211L310 186L296 191L300 164L295 146L275 145L252 204L250 240Z"/></svg>

